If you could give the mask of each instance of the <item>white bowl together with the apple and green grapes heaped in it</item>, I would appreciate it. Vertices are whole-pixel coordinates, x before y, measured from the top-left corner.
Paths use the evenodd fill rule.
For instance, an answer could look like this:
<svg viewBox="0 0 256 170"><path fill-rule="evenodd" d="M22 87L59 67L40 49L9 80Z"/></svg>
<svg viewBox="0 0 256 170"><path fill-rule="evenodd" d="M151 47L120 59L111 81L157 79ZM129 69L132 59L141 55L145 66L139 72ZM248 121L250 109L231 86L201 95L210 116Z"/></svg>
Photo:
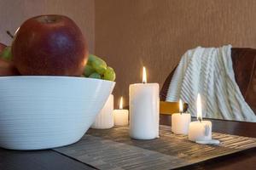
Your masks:
<svg viewBox="0 0 256 170"><path fill-rule="evenodd" d="M86 64L85 38L66 16L26 20L12 45L0 46L0 147L42 150L81 139L115 85L114 71L91 56Z"/></svg>

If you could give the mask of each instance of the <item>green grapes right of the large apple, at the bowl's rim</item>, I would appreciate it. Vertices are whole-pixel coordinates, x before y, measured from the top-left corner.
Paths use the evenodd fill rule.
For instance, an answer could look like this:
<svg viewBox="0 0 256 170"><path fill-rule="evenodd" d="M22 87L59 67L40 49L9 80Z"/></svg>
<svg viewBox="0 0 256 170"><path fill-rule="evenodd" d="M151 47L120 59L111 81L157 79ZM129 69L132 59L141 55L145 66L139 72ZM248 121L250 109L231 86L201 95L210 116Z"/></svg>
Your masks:
<svg viewBox="0 0 256 170"><path fill-rule="evenodd" d="M89 54L87 64L84 67L84 77L114 81L115 72L103 59Z"/></svg>

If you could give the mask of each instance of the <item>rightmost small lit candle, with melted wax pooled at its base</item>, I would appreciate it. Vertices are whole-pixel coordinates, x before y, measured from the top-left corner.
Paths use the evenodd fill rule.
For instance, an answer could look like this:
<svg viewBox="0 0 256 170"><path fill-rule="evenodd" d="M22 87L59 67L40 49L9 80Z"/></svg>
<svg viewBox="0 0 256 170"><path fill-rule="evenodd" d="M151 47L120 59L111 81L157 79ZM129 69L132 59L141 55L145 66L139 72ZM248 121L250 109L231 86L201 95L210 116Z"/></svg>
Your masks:
<svg viewBox="0 0 256 170"><path fill-rule="evenodd" d="M197 120L189 123L189 140L207 141L212 139L212 122L202 121L201 95L198 94L196 101Z"/></svg>

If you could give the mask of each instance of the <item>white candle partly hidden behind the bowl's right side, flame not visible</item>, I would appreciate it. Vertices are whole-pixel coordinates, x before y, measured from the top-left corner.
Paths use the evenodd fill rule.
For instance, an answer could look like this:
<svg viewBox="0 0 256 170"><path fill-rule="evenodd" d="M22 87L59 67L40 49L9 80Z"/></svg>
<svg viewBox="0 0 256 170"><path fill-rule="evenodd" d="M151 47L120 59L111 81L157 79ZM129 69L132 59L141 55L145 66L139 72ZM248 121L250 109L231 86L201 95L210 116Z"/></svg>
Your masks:
<svg viewBox="0 0 256 170"><path fill-rule="evenodd" d="M102 111L96 116L95 122L91 128L111 128L113 127L113 94L110 94L107 102L102 108Z"/></svg>

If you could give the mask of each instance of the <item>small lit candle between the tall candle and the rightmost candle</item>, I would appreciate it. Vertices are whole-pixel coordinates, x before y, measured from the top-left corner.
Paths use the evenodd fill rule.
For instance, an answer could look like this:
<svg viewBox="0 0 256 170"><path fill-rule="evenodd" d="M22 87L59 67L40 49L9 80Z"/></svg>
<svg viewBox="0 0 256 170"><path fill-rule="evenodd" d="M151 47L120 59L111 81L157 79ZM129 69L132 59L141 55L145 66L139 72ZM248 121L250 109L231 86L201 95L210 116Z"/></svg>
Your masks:
<svg viewBox="0 0 256 170"><path fill-rule="evenodd" d="M179 99L179 113L172 114L172 132L176 134L189 133L189 123L191 122L191 115L183 113L183 102Z"/></svg>

